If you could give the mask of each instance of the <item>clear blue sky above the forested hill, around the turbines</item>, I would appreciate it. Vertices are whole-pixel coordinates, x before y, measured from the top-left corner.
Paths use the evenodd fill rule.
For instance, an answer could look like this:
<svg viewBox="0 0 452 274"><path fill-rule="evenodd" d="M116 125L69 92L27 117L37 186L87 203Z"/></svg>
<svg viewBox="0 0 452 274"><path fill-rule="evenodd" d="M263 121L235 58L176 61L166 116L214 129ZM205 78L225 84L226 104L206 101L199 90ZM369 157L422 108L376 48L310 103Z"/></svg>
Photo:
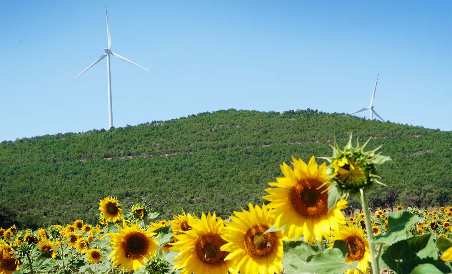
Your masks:
<svg viewBox="0 0 452 274"><path fill-rule="evenodd" d="M2 1L0 141L218 109L370 103L386 120L452 130L451 1ZM369 118L369 113L359 113Z"/></svg>

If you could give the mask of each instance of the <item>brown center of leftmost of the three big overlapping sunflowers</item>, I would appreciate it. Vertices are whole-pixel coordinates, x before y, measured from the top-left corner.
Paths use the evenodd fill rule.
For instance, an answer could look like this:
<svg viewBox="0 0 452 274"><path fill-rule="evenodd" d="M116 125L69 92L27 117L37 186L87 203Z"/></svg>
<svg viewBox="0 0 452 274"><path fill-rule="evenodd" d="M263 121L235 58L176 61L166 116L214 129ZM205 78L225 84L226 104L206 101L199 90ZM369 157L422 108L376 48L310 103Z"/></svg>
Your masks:
<svg viewBox="0 0 452 274"><path fill-rule="evenodd" d="M229 252L221 251L220 247L226 244L219 234L202 234L195 243L195 251L199 260L207 265L221 265Z"/></svg>

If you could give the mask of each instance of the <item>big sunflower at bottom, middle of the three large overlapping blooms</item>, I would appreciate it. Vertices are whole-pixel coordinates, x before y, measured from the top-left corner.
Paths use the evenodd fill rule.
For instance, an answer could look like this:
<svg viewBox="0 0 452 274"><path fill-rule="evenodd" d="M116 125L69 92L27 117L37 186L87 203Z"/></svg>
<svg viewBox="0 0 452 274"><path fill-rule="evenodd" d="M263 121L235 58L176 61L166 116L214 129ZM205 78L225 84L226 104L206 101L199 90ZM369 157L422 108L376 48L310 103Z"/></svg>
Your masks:
<svg viewBox="0 0 452 274"><path fill-rule="evenodd" d="M225 260L233 262L235 273L273 274L282 270L282 231L264 233L274 224L274 217L263 205L253 207L250 211L234 211L232 222L226 223L226 230L221 237L228 243L220 250L230 252Z"/></svg>

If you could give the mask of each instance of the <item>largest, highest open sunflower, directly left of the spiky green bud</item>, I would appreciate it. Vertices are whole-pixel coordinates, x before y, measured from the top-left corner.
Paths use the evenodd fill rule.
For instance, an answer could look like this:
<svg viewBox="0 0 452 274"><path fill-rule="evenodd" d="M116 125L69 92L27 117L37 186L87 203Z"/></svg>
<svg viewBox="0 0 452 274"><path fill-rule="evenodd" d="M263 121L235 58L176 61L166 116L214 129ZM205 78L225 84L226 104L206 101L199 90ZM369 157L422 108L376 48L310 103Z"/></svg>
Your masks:
<svg viewBox="0 0 452 274"><path fill-rule="evenodd" d="M274 208L272 215L276 217L275 227L286 225L284 233L295 236L295 241L304 236L311 244L322 235L330 236L331 229L339 229L345 224L345 217L340 211L347 208L347 201L339 202L328 211L328 192L330 183L326 176L326 164L317 163L314 156L306 165L301 159L292 157L293 170L286 164L280 165L285 177L276 178L278 182L268 183L277 188L265 189L269 194L264 196L270 201L268 208Z"/></svg>

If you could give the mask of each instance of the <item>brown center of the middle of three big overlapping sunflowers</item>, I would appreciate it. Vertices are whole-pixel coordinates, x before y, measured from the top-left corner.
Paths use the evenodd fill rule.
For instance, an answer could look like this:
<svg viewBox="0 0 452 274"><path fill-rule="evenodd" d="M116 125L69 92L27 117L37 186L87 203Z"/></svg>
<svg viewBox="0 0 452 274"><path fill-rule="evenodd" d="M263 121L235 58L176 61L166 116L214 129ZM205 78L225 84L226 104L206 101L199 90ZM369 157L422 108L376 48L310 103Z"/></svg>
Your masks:
<svg viewBox="0 0 452 274"><path fill-rule="evenodd" d="M268 226L256 225L245 234L245 250L253 258L263 258L275 250L278 243L275 232L268 232Z"/></svg>

